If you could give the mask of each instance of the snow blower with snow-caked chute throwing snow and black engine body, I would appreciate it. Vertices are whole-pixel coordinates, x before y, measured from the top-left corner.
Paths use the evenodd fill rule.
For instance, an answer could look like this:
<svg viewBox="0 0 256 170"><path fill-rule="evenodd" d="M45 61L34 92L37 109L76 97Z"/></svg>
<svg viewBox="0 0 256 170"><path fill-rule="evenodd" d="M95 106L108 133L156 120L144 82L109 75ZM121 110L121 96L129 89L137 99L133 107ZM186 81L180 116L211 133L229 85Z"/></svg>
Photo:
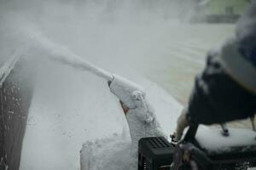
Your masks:
<svg viewBox="0 0 256 170"><path fill-rule="evenodd" d="M138 170L218 170L247 169L254 166L256 144L253 131L234 129L229 135L224 135L227 133L226 128L224 133L216 133L213 129L204 132L198 130L197 124L189 127L180 142L170 143L162 137L160 123L154 116L154 109L148 104L143 88L76 55L73 57L75 59L67 56L57 56L53 59L83 71L90 71L108 82L110 91L120 100L125 112L130 127L132 148L138 152Z"/></svg>

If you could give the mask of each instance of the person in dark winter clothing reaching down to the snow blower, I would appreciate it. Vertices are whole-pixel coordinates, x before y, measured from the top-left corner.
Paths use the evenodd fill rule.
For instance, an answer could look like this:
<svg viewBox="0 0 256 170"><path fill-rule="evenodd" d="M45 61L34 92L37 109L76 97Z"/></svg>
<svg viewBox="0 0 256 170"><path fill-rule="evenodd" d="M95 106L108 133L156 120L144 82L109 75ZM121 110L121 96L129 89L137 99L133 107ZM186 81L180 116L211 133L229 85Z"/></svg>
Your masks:
<svg viewBox="0 0 256 170"><path fill-rule="evenodd" d="M177 119L181 139L192 123L213 124L253 117L256 113L256 1L236 25L236 34L207 55L195 78L189 104Z"/></svg>

